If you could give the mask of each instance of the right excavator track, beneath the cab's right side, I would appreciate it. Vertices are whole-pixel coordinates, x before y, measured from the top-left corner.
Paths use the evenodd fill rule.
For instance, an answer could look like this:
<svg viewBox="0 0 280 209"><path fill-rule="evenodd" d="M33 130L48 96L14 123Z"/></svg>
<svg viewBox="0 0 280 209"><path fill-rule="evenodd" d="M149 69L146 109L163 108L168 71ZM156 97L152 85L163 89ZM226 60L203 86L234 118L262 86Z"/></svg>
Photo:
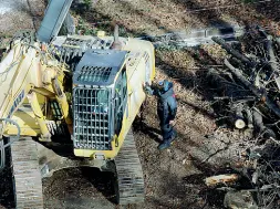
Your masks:
<svg viewBox="0 0 280 209"><path fill-rule="evenodd" d="M142 165L138 158L132 129L115 158L117 173L117 202L120 205L144 202L145 189Z"/></svg>

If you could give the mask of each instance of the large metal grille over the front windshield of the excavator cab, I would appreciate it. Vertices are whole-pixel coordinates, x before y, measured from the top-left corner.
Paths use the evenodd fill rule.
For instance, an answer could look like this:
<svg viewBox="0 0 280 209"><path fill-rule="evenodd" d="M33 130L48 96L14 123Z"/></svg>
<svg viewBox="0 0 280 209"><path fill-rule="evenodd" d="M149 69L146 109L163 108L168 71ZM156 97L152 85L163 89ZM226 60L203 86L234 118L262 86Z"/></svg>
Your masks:
<svg viewBox="0 0 280 209"><path fill-rule="evenodd" d="M111 92L107 88L74 88L74 147L110 150Z"/></svg>

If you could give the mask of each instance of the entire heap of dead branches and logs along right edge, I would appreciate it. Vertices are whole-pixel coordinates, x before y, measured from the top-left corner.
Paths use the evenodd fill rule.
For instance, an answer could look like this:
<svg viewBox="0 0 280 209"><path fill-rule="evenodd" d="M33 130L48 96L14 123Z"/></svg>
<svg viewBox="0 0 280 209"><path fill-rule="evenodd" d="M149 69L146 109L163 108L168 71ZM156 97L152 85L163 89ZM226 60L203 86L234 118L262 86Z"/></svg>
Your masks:
<svg viewBox="0 0 280 209"><path fill-rule="evenodd" d="M258 27L242 38L239 49L221 39L212 40L229 54L224 61L225 69L208 71L218 93L215 100L226 107L224 113L234 127L253 128L256 135L234 174L209 177L206 184L222 185L219 189L228 191L224 201L227 208L279 208L279 40Z"/></svg>

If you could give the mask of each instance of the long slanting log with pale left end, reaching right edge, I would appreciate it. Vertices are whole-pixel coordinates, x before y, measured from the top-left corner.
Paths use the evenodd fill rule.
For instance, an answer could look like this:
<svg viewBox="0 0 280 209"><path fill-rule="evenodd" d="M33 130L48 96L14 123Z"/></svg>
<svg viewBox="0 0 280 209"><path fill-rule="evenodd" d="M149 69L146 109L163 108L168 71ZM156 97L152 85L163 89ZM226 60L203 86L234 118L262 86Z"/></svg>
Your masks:
<svg viewBox="0 0 280 209"><path fill-rule="evenodd" d="M240 70L234 67L228 60L225 60L226 66L230 70L232 74L237 76L237 79L242 82L242 84L248 87L257 97L262 100L262 102L278 116L280 117L279 107L268 97L267 91L263 88L262 91L258 90L255 85L252 85L240 72Z"/></svg>

